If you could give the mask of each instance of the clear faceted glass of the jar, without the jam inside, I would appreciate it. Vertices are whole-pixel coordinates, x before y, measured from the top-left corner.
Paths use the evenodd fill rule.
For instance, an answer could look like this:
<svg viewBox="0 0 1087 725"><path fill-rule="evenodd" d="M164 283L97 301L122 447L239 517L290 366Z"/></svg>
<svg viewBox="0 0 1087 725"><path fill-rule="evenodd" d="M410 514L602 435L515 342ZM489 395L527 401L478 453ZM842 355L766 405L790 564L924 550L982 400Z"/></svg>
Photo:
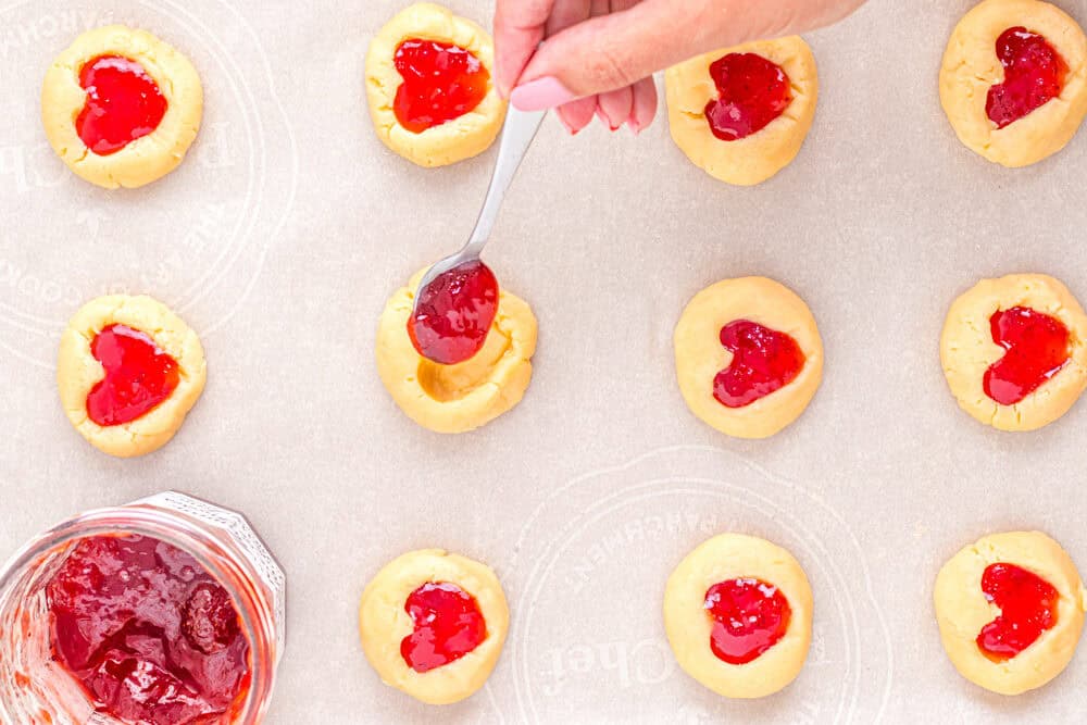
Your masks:
<svg viewBox="0 0 1087 725"><path fill-rule="evenodd" d="M241 514L168 491L90 511L38 536L0 574L0 723L110 725L79 682L53 660L46 587L84 538L136 534L177 547L230 595L249 643L249 689L223 722L251 725L267 711L283 655L283 570Z"/></svg>

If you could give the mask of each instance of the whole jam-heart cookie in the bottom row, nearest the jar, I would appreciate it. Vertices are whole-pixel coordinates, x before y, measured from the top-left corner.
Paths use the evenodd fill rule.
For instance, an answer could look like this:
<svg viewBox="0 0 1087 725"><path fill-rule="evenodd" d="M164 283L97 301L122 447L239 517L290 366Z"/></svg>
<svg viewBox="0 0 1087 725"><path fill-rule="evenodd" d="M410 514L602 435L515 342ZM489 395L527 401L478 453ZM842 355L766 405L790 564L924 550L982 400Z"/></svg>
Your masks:
<svg viewBox="0 0 1087 725"><path fill-rule="evenodd" d="M502 653L510 610L488 566L425 549L377 573L362 593L359 626L382 682L416 700L449 704L487 682ZM415 650L413 640L423 647ZM447 648L450 640L455 645Z"/></svg>

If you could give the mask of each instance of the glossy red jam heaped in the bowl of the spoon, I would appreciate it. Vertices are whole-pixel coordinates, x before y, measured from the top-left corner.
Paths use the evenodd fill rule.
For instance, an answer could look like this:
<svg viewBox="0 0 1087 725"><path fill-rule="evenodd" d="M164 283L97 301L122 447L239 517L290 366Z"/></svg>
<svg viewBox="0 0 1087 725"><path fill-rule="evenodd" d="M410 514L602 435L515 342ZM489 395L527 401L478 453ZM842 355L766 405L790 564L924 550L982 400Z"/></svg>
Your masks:
<svg viewBox="0 0 1087 725"><path fill-rule="evenodd" d="M495 273L478 260L467 262L438 275L420 292L408 336L427 360L453 365L479 352L497 313Z"/></svg>

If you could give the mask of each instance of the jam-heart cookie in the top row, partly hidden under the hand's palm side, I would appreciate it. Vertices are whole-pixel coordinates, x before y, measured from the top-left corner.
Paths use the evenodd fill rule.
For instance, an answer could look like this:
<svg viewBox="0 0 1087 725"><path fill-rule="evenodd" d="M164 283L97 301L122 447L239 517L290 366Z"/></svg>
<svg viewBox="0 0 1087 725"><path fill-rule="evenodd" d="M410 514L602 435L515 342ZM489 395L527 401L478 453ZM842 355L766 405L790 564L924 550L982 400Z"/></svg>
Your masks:
<svg viewBox="0 0 1087 725"><path fill-rule="evenodd" d="M734 67L714 65L725 63L726 58L735 60ZM784 77L775 76L775 65ZM726 72L728 76L722 75ZM732 77L733 82L719 87L714 75ZM761 184L792 162L811 128L819 97L815 58L808 43L796 36L692 58L669 68L664 85L669 125L676 146L710 176L739 186ZM771 90L763 90L766 95L752 97L752 88L767 86ZM711 105L716 101L722 105ZM748 109L748 103L754 105ZM779 110L783 105L784 110ZM723 140L711 128L708 112L713 116L713 108L732 117L746 118L751 111L753 126L745 122L738 135L773 118L750 135Z"/></svg>

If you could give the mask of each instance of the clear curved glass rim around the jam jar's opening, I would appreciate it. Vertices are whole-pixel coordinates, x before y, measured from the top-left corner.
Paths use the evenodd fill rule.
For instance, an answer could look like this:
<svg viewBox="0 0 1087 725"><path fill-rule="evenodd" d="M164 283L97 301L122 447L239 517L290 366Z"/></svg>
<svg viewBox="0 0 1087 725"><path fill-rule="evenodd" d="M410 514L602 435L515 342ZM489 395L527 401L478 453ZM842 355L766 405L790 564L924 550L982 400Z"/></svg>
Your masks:
<svg viewBox="0 0 1087 725"><path fill-rule="evenodd" d="M25 572L39 565L51 551L79 539L132 534L182 549L226 589L237 609L249 643L249 689L242 705L230 713L229 722L257 725L263 720L275 684L277 648L272 640L282 633L274 632L275 617L259 585L238 564L239 552L224 549L200 529L200 522L147 501L77 514L33 537L4 563L0 568L0 607L7 604L11 587Z"/></svg>

